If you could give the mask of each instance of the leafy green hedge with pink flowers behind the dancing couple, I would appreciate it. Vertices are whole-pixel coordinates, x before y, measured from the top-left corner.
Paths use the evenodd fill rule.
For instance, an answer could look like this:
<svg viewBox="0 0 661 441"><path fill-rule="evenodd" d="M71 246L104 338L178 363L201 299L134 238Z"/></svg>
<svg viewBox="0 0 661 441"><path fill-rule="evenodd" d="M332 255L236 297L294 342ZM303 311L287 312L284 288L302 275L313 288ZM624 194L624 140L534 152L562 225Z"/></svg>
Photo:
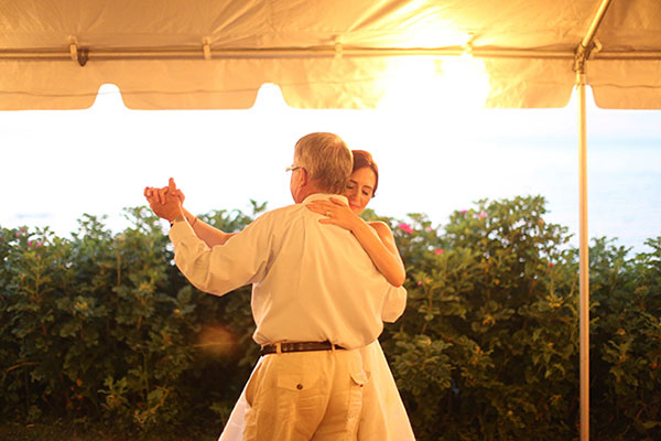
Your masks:
<svg viewBox="0 0 661 441"><path fill-rule="evenodd" d="M252 204L201 217L237 230ZM381 343L420 440L577 437L578 258L544 215L538 196L480 201L443 227L382 218L409 303ZM162 222L127 216L121 234L85 216L71 239L0 228L3 419L220 432L258 357L250 290L197 291ZM647 245L590 248L595 439L661 439L661 237Z"/></svg>

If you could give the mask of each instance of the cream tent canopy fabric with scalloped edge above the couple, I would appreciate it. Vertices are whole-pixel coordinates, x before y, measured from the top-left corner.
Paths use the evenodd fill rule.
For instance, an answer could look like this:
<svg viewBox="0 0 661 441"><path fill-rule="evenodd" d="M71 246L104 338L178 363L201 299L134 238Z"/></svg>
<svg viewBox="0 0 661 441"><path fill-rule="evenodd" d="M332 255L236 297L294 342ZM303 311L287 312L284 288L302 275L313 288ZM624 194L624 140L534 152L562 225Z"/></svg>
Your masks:
<svg viewBox="0 0 661 441"><path fill-rule="evenodd" d="M575 84L573 54L598 6L4 0L0 109L87 108L107 83L133 109L248 108L264 83L278 84L294 107L372 108L395 87L393 72L414 58L402 53L424 53L443 71L441 55L465 49L484 62L487 107L563 107ZM614 0L596 37L586 74L597 105L661 108L661 2Z"/></svg>

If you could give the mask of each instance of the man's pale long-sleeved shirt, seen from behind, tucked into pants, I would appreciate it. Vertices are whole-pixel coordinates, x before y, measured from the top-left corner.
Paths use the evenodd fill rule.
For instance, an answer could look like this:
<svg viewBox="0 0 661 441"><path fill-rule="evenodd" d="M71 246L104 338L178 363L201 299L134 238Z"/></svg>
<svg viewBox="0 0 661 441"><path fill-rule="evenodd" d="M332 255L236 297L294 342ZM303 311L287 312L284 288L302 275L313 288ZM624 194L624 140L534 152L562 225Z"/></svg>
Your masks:
<svg viewBox="0 0 661 441"><path fill-rule="evenodd" d="M310 195L263 214L213 248L187 223L175 223L170 230L175 263L191 283L213 294L252 283L258 344L365 346L379 336L383 321L402 314L407 291L386 281L350 232L319 224L321 216L304 206L329 196L344 197Z"/></svg>

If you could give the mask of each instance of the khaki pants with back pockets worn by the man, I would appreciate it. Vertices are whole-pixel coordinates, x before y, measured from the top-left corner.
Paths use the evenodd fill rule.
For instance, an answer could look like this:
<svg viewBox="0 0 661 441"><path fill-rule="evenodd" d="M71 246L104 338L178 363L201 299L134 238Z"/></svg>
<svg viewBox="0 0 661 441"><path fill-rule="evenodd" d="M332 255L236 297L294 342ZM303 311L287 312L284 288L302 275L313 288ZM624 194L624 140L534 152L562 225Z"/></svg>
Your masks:
<svg viewBox="0 0 661 441"><path fill-rule="evenodd" d="M355 440L366 383L358 351L266 355L246 386L243 440Z"/></svg>

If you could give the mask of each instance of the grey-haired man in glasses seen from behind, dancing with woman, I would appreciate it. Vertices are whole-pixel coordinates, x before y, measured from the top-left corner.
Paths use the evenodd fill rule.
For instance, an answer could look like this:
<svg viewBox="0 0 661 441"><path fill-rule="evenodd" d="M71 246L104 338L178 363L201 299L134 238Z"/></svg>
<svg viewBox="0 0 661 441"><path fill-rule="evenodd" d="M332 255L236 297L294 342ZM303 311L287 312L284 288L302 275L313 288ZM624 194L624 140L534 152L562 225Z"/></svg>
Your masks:
<svg viewBox="0 0 661 441"><path fill-rule="evenodd" d="M245 440L351 440L368 381L357 348L375 341L382 320L403 312L394 291L346 229L319 224L305 204L344 198L351 152L333 133L299 140L290 189L295 204L260 216L209 248L186 222L176 189L154 212L172 223L175 262L198 289L223 295L252 283L261 345L246 386ZM345 200L346 202L346 200Z"/></svg>

